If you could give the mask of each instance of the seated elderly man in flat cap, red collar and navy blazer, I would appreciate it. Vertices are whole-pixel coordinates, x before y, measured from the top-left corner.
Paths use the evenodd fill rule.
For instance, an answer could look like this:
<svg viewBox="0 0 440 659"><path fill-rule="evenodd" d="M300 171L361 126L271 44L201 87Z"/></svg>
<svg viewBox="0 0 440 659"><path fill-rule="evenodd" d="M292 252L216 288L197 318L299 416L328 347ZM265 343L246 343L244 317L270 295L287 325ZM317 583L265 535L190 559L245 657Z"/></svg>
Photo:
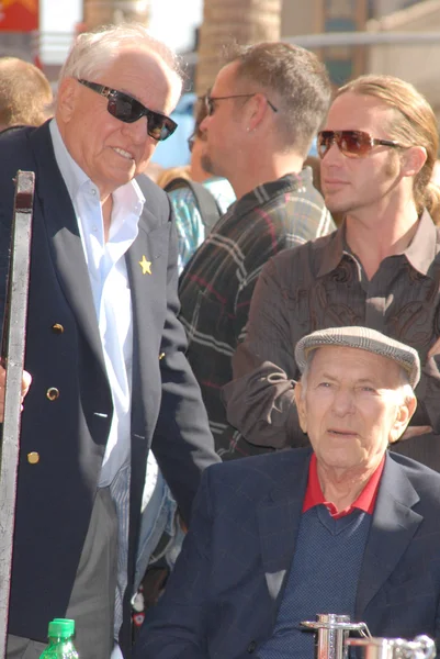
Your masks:
<svg viewBox="0 0 440 659"><path fill-rule="evenodd" d="M313 450L204 472L138 659L312 658L301 622L317 613L439 641L440 474L386 450L416 407L417 351L339 327L302 338L295 357Z"/></svg>

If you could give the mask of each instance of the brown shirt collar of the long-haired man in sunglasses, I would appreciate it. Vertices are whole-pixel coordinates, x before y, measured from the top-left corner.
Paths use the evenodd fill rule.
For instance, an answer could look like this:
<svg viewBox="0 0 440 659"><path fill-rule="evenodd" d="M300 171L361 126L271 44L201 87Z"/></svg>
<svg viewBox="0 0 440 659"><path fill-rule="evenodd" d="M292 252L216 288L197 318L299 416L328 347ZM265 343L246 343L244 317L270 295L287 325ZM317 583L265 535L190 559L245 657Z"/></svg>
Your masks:
<svg viewBox="0 0 440 659"><path fill-rule="evenodd" d="M437 242L437 227L428 211L425 210L418 222L413 241L408 247L402 252L402 255L406 257L407 261L415 270L427 276L433 259L436 258ZM346 241L345 220L339 230L332 234L330 243L326 245L320 258L318 277L324 277L335 270L339 266L343 255L349 255L353 258Z"/></svg>

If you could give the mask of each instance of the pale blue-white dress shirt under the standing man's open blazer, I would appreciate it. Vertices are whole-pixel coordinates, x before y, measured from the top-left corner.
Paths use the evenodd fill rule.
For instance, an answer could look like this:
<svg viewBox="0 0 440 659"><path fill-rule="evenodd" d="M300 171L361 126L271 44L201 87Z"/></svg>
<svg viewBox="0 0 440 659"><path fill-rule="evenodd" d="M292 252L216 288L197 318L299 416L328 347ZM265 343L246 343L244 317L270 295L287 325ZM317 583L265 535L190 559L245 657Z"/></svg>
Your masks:
<svg viewBox="0 0 440 659"><path fill-rule="evenodd" d="M136 181L113 192L112 221L105 243L97 186L70 156L55 119L50 122L50 135L78 221L113 398L112 424L99 480L99 485L105 487L131 457L133 323L124 257L137 236L145 198Z"/></svg>

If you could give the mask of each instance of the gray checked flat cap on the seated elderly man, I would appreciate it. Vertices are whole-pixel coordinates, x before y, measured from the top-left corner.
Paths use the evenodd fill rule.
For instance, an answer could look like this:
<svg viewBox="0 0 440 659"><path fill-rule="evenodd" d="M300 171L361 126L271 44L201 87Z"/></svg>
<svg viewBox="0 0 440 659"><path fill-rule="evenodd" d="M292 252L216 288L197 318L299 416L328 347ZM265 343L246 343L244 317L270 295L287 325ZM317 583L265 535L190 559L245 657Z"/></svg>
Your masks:
<svg viewBox="0 0 440 659"><path fill-rule="evenodd" d="M303 336L295 347L295 359L301 372L305 369L308 353L324 346L360 348L393 359L406 370L413 389L420 379L420 360L417 350L381 332L358 326L329 327Z"/></svg>

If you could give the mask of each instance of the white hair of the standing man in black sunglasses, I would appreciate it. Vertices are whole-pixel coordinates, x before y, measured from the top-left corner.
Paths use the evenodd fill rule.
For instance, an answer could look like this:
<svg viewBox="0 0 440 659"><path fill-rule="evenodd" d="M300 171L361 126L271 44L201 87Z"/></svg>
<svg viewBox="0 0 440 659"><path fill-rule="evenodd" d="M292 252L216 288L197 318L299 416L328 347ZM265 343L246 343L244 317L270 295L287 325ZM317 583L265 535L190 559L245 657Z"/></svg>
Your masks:
<svg viewBox="0 0 440 659"><path fill-rule="evenodd" d="M59 82L69 77L90 79L99 76L117 58L121 48L133 46L156 53L181 83L183 74L178 56L140 23L103 25L80 34L63 65Z"/></svg>

